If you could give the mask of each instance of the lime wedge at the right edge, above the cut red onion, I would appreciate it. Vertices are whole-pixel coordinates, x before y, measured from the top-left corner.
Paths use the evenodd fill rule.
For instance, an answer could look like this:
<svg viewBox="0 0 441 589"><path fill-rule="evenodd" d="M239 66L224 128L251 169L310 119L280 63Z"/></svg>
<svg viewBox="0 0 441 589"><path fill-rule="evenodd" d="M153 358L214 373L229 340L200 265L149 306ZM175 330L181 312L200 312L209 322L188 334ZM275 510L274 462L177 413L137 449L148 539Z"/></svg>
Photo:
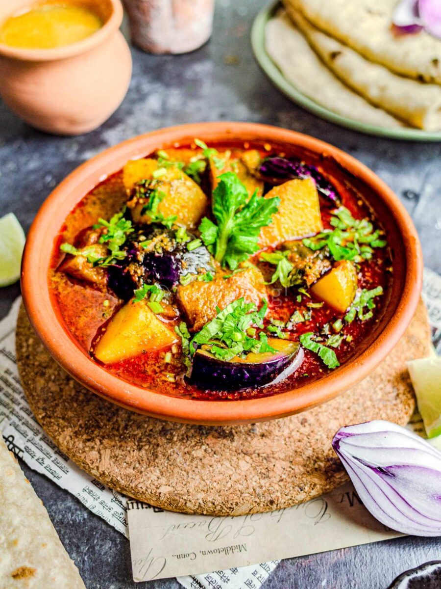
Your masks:
<svg viewBox="0 0 441 589"><path fill-rule="evenodd" d="M441 435L441 358L407 362L418 410L428 438Z"/></svg>

